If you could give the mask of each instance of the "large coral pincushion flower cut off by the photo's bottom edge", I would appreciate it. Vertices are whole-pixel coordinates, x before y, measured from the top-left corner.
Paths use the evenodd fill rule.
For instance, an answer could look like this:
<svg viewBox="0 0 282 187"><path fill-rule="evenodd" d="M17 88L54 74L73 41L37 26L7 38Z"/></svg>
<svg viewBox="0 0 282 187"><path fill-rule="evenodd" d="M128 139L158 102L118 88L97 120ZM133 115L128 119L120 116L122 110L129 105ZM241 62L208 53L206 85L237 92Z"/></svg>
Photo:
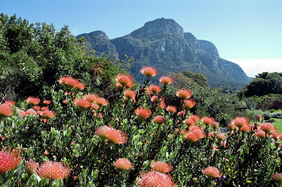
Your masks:
<svg viewBox="0 0 282 187"><path fill-rule="evenodd" d="M135 180L138 187L175 187L177 183L172 180L170 174L163 174L156 171L143 171Z"/></svg>

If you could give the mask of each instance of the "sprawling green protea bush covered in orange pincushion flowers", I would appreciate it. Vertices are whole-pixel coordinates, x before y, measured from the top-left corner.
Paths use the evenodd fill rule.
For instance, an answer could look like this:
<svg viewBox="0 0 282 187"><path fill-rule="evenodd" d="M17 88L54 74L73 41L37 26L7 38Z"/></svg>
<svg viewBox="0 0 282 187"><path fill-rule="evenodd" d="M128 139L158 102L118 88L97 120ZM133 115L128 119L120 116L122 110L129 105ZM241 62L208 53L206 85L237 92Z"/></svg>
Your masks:
<svg viewBox="0 0 282 187"><path fill-rule="evenodd" d="M238 116L223 129L211 116L191 113L193 90L173 79L150 77L134 87L116 75L108 98L61 77L50 98L28 97L27 109L0 105L0 184L3 186L277 186L281 185L281 140L272 124ZM47 100L50 99L50 100Z"/></svg>

